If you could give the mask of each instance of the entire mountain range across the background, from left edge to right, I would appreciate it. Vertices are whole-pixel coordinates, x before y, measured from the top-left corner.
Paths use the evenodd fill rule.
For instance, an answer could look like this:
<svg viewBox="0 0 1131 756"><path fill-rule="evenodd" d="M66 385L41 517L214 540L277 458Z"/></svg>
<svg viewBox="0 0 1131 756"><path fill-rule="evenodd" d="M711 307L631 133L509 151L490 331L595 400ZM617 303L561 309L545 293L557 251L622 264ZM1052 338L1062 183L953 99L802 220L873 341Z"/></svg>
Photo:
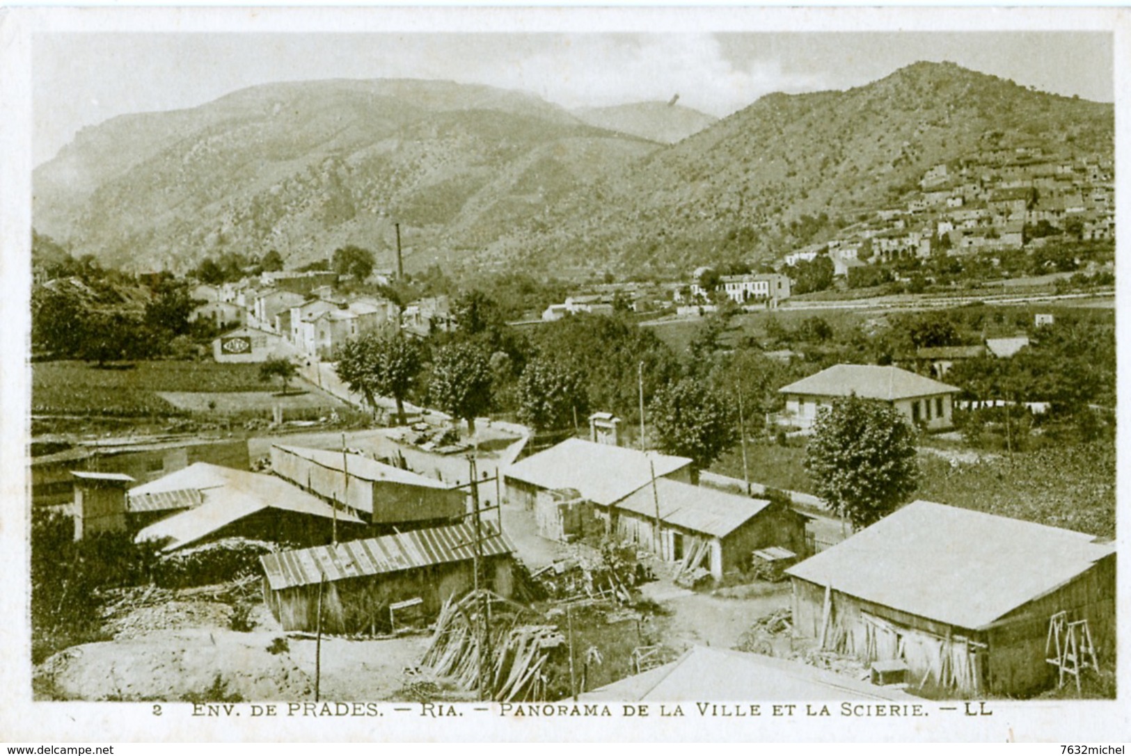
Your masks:
<svg viewBox="0 0 1131 756"><path fill-rule="evenodd" d="M84 129L35 171L33 218L76 255L136 270L271 249L296 267L344 244L391 267L397 221L411 270L670 275L826 241L906 202L942 162L1022 144L1114 151L1112 105L953 63L767 95L658 144L693 113L571 113L446 81L265 85Z"/></svg>

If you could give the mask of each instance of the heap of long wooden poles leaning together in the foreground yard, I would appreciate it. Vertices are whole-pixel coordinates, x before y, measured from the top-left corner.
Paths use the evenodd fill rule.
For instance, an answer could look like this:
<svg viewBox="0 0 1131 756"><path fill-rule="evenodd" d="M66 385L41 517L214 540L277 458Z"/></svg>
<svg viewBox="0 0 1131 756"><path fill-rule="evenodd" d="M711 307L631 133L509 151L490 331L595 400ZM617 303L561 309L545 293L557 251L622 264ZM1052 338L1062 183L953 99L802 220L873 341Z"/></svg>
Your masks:
<svg viewBox="0 0 1131 756"><path fill-rule="evenodd" d="M484 606L491 615L490 633ZM483 692L493 701L538 701L546 687L546 660L566 637L554 625L519 624L524 612L515 608L490 591L449 599L421 666L466 690L485 686Z"/></svg>

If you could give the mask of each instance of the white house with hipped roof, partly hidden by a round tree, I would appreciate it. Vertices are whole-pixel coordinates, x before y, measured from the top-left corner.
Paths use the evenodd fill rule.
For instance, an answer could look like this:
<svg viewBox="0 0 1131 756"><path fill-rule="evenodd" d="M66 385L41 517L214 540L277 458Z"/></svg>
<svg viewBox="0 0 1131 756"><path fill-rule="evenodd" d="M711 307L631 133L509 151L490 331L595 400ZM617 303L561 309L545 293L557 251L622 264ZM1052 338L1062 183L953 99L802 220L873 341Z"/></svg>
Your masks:
<svg viewBox="0 0 1131 756"><path fill-rule="evenodd" d="M959 389L893 365L834 365L815 375L778 389L786 411L779 422L811 428L818 410L834 399L874 399L891 405L908 423L930 431L950 428L955 394Z"/></svg>

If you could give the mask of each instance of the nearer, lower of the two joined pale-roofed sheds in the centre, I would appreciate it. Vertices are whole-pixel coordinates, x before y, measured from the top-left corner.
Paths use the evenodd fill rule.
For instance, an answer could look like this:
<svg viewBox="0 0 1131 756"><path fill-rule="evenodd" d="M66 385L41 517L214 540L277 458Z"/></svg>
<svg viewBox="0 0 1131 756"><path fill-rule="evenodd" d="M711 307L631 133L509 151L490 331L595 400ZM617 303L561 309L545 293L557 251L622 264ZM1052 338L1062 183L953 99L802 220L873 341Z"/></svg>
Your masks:
<svg viewBox="0 0 1131 756"><path fill-rule="evenodd" d="M777 546L804 554L809 521L785 502L667 478L657 478L655 487L646 485L599 511L622 540L688 570L701 566L715 580L749 566L757 549Z"/></svg>

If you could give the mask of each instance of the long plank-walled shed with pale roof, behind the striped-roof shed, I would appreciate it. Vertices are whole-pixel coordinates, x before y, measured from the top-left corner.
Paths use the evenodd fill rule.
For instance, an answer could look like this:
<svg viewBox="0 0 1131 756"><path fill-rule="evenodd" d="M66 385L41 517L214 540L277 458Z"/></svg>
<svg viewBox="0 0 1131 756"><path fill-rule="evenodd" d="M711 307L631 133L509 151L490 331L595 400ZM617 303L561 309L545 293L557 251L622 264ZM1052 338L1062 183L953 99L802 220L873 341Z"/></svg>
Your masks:
<svg viewBox="0 0 1131 756"><path fill-rule="evenodd" d="M426 528L467 513L466 490L361 454L275 444L271 470L323 499L344 503L372 525Z"/></svg>

